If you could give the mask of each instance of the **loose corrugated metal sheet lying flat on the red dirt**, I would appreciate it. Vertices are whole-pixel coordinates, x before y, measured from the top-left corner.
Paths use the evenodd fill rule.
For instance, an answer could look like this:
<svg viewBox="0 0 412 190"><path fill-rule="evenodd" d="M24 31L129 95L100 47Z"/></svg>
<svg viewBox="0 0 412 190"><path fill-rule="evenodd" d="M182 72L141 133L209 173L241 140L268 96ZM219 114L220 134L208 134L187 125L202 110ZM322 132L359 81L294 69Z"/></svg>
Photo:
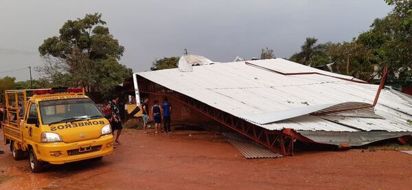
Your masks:
<svg viewBox="0 0 412 190"><path fill-rule="evenodd" d="M233 147L244 156L244 158L281 158L281 154L273 153L266 147L259 145L237 133L222 133Z"/></svg>

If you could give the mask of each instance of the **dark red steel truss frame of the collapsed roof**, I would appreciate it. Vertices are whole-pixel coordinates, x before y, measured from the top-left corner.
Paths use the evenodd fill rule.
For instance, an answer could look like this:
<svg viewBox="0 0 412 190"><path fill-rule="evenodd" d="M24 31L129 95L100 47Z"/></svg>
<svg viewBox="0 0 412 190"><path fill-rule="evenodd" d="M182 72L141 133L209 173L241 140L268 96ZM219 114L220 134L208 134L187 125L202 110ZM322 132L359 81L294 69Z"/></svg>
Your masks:
<svg viewBox="0 0 412 190"><path fill-rule="evenodd" d="M244 119L240 119L239 117L235 117L227 112L222 110L218 110L212 106L209 106L203 102L200 102L192 97L187 95L183 95L181 93L175 92L170 90L169 88L165 88L160 84L147 80L137 74L134 74L135 80L137 80L137 86L139 88L139 93L149 93L154 95L168 95L176 99L177 101L201 112L203 115L218 121L223 126L230 128L244 136L247 136L249 139L255 141L256 143L260 143L271 150L272 152L282 154L284 156L293 156L294 155L294 143L296 140L299 140L304 143L317 143L312 141L305 136L302 136L298 132L290 128L284 128L283 130L268 130L266 128L262 128L260 126L256 126L253 123L245 121ZM378 100L380 91L384 87L385 79L387 76L387 67L383 70L382 80L380 82L380 86L378 88L378 92L376 93L374 104L371 106L375 106ZM136 87L136 86L135 86ZM136 89L135 89L136 91ZM361 107L365 108L365 107ZM360 109L360 108L354 108ZM344 110L336 110L335 112L340 112ZM323 114L328 114L330 112L325 112ZM346 147L346 145L343 145Z"/></svg>

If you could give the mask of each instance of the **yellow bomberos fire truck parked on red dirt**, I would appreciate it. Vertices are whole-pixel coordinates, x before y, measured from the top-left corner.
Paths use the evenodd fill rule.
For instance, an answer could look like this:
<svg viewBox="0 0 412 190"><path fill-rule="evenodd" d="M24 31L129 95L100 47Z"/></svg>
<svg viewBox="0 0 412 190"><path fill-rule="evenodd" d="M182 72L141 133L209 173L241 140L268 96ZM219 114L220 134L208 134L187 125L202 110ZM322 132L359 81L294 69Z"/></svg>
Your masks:
<svg viewBox="0 0 412 190"><path fill-rule="evenodd" d="M100 160L113 152L111 126L84 88L5 91L4 143L15 160L45 163Z"/></svg>

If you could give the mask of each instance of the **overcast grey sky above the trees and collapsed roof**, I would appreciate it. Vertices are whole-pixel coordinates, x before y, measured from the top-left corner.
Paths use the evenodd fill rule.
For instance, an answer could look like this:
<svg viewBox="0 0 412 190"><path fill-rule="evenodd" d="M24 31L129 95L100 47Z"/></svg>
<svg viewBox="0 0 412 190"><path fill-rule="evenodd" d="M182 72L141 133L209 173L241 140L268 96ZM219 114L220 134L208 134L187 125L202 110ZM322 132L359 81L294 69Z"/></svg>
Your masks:
<svg viewBox="0 0 412 190"><path fill-rule="evenodd" d="M36 54L1 49L37 51L65 21L87 13L103 14L126 49L120 62L139 72L157 58L181 56L185 48L216 62L259 57L264 47L288 58L306 37L351 40L390 10L383 0L0 0L0 78L27 80L28 70L4 71L43 64Z"/></svg>

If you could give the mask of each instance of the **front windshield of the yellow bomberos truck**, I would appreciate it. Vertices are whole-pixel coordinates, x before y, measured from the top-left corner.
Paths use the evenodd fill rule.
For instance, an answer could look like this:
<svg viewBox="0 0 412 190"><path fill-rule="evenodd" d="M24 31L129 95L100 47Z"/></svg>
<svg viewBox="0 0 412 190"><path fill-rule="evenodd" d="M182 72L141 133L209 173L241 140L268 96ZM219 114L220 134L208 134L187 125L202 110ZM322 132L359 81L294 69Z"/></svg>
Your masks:
<svg viewBox="0 0 412 190"><path fill-rule="evenodd" d="M88 98L43 101L39 102L39 108L41 121L45 125L103 117L99 108Z"/></svg>

